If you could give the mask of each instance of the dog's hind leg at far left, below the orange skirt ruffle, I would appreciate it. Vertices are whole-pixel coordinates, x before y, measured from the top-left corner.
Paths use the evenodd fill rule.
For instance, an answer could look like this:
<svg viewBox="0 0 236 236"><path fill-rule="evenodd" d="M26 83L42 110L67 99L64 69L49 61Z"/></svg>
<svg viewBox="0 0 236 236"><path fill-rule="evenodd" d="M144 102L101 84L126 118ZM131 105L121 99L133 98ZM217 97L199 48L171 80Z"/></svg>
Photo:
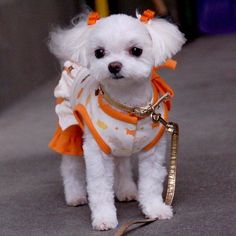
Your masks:
<svg viewBox="0 0 236 236"><path fill-rule="evenodd" d="M67 205L78 206L86 204L84 158L79 156L62 156L61 175Z"/></svg>

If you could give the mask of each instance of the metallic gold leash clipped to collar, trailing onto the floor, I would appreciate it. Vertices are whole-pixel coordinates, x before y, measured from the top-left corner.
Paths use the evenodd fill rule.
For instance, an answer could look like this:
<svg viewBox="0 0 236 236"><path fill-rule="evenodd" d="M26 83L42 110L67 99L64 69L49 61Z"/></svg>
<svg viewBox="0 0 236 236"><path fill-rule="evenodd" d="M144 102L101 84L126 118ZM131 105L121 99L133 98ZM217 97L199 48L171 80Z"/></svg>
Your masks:
<svg viewBox="0 0 236 236"><path fill-rule="evenodd" d="M178 152L178 143L179 143L179 126L174 122L166 122L161 114L157 114L154 111L151 113L151 118L153 122L160 122L166 127L166 130L171 134L171 151L170 151L170 164L168 171L167 179L167 191L165 197L165 203L171 205L175 195L176 187L176 167L177 167L177 152ZM122 225L114 236L123 236L127 229L132 225L138 225L136 228L152 223L158 219L143 219L143 220L134 220Z"/></svg>

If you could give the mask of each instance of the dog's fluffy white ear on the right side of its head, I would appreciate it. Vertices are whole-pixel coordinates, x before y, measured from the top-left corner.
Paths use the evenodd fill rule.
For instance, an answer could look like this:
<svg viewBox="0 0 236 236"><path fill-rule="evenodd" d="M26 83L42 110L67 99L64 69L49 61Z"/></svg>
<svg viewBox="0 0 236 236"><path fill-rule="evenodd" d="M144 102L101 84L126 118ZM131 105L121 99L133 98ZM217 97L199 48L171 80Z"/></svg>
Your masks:
<svg viewBox="0 0 236 236"><path fill-rule="evenodd" d="M177 26L163 19L153 19L145 24L153 42L155 66L175 55L185 43Z"/></svg>

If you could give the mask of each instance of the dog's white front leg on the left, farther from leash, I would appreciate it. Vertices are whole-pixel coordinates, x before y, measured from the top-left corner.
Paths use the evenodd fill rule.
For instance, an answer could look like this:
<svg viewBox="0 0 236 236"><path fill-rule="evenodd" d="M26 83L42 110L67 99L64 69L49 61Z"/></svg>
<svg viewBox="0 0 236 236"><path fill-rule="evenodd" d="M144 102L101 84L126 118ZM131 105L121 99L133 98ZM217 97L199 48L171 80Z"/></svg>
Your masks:
<svg viewBox="0 0 236 236"><path fill-rule="evenodd" d="M101 151L88 130L84 138L83 149L92 226L97 230L113 229L118 224L114 205L113 158Z"/></svg>

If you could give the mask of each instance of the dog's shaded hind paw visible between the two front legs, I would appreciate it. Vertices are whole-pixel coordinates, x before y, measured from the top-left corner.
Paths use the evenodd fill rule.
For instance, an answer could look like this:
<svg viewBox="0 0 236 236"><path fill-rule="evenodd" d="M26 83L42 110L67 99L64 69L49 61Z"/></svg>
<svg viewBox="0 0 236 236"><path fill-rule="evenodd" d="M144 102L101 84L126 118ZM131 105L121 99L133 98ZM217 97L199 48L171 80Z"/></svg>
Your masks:
<svg viewBox="0 0 236 236"><path fill-rule="evenodd" d="M134 182L127 182L116 189L116 197L119 201L133 201L138 199L138 190Z"/></svg>

